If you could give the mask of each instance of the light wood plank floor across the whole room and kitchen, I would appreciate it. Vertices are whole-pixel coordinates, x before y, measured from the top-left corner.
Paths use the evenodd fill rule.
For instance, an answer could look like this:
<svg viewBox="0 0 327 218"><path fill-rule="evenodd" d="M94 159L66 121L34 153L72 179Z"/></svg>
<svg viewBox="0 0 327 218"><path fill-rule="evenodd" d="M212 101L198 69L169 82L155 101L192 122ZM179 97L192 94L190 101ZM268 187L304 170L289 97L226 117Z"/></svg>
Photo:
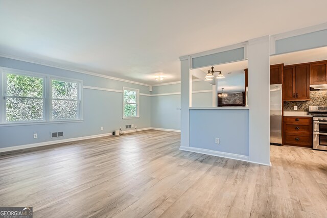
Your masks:
<svg viewBox="0 0 327 218"><path fill-rule="evenodd" d="M0 206L34 217L327 217L327 152L271 147L272 166L178 150L142 131L0 156Z"/></svg>

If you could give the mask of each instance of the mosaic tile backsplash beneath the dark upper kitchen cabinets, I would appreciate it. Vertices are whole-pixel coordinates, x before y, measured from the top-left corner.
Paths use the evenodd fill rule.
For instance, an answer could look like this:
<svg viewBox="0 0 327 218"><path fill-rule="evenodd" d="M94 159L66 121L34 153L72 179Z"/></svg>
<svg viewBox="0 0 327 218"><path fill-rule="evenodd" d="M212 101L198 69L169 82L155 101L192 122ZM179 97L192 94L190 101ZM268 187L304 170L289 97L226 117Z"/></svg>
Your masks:
<svg viewBox="0 0 327 218"><path fill-rule="evenodd" d="M293 111L294 106L299 111L308 111L309 105L327 105L327 90L310 91L310 101L284 102L284 111Z"/></svg>

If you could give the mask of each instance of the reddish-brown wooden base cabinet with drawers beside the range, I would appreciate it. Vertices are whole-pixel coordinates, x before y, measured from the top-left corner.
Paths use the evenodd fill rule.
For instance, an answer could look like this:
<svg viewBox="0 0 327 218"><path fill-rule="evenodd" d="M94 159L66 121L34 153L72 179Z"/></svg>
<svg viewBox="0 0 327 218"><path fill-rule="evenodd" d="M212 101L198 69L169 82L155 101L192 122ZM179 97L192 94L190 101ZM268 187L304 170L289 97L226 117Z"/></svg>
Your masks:
<svg viewBox="0 0 327 218"><path fill-rule="evenodd" d="M312 117L284 116L284 145L312 148Z"/></svg>

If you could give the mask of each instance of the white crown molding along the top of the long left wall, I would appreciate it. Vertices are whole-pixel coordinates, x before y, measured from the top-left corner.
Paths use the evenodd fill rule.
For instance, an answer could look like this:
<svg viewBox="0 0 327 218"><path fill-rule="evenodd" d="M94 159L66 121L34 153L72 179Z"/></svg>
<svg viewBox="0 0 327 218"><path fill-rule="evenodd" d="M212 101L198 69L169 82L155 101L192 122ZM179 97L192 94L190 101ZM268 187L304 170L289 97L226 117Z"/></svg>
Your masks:
<svg viewBox="0 0 327 218"><path fill-rule="evenodd" d="M102 75L102 74L98 74L96 72L81 70L81 69L77 69L77 68L74 68L74 67L62 67L63 65L65 65L65 63L60 63L60 62L59 63L46 63L45 60L36 61L36 60L28 59L28 58L21 58L21 57L17 57L17 56L2 54L2 53L0 53L0 57L10 58L10 59L18 60L18 61L25 61L25 62L39 64L39 65L43 65L43 66L55 67L55 68L58 68L58 69L64 69L64 70L79 72L80 74L87 74L87 75L91 75L91 76L95 76L95 77L102 77L102 78L107 78L107 79L111 79L111 80L118 80L118 81L121 81L121 82L133 83L133 84L143 85L143 86L150 86L149 84L134 82L134 81L131 81L131 80L125 80L125 79L116 78L116 77L110 77L110 76L107 76L107 75ZM60 66L60 65L62 65L62 66Z"/></svg>

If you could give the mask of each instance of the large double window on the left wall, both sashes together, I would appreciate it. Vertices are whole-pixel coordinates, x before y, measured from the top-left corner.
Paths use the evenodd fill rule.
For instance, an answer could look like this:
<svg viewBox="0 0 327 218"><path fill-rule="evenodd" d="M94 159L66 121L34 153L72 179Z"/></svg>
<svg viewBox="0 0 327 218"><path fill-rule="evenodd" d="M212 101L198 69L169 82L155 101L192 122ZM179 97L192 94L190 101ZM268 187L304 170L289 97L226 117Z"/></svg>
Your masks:
<svg viewBox="0 0 327 218"><path fill-rule="evenodd" d="M0 83L0 124L82 118L82 81L0 68Z"/></svg>

